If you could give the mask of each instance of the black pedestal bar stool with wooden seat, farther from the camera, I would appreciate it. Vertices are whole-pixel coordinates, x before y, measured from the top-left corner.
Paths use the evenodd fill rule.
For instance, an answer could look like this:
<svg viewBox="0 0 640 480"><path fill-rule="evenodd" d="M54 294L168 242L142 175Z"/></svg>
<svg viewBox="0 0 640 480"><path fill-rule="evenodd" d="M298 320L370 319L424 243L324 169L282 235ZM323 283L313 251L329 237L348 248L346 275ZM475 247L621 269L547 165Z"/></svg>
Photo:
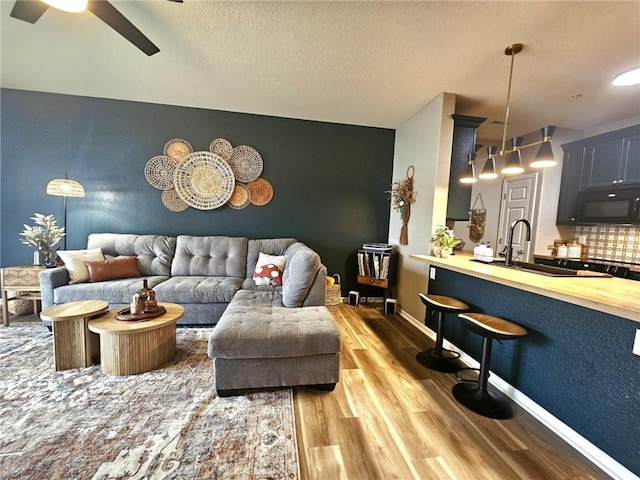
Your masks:
<svg viewBox="0 0 640 480"><path fill-rule="evenodd" d="M469 310L469 305L460 300L442 295L420 294L420 300L427 307L425 312L425 324L429 315L429 309L438 312L438 325L436 331L436 347L416 354L416 360L431 370L453 373L458 371L460 354L442 347L444 340L444 314L460 313Z"/></svg>

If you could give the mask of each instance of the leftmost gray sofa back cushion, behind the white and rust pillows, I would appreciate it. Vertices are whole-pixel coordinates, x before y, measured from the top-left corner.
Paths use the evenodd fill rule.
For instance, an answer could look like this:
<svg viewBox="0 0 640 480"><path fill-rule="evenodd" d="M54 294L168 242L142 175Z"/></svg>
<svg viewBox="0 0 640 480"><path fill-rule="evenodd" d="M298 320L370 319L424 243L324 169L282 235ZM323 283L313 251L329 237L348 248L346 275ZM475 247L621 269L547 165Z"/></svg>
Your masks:
<svg viewBox="0 0 640 480"><path fill-rule="evenodd" d="M138 269L145 277L169 276L176 238L166 235L92 233L87 240L87 248L101 248L107 258L137 257Z"/></svg>

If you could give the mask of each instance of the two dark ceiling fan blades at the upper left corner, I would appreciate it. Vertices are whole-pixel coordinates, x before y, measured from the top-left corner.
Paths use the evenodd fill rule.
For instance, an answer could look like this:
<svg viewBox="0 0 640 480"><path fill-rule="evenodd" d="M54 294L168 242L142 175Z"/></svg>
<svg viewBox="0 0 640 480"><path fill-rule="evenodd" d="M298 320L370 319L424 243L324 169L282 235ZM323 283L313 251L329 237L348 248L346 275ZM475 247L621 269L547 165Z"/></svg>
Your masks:
<svg viewBox="0 0 640 480"><path fill-rule="evenodd" d="M182 3L182 0L169 1ZM36 23L42 14L47 11L49 4L53 5L54 3L51 0L47 0L47 3L44 0L16 0L9 15L18 20ZM86 8L147 55L151 56L160 51L151 40L107 0L89 0Z"/></svg>

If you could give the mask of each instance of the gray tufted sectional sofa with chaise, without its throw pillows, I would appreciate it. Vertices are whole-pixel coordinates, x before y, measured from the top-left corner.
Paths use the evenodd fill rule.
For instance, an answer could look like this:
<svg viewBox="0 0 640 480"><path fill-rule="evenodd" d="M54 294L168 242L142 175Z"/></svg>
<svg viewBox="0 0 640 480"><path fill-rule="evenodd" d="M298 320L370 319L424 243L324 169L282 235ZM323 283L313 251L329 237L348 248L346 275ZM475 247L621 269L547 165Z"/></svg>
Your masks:
<svg viewBox="0 0 640 480"><path fill-rule="evenodd" d="M40 274L42 307L101 299L126 306L142 287L184 307L179 325L214 326L209 356L220 395L247 388L338 381L340 332L325 305L327 269L293 238L95 233L87 250L136 257L140 277L72 282L66 267ZM285 256L282 286L257 285L260 254ZM70 267L71 268L71 267Z"/></svg>

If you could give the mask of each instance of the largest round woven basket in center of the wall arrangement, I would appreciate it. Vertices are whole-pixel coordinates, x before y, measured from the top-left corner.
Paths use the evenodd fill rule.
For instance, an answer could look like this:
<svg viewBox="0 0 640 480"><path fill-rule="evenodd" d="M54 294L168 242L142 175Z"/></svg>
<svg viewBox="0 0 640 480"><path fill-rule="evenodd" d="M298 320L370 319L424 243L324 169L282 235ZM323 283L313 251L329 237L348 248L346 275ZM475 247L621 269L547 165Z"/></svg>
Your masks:
<svg viewBox="0 0 640 480"><path fill-rule="evenodd" d="M229 201L235 177L229 164L211 152L187 155L176 167L174 188L189 206L213 210Z"/></svg>

